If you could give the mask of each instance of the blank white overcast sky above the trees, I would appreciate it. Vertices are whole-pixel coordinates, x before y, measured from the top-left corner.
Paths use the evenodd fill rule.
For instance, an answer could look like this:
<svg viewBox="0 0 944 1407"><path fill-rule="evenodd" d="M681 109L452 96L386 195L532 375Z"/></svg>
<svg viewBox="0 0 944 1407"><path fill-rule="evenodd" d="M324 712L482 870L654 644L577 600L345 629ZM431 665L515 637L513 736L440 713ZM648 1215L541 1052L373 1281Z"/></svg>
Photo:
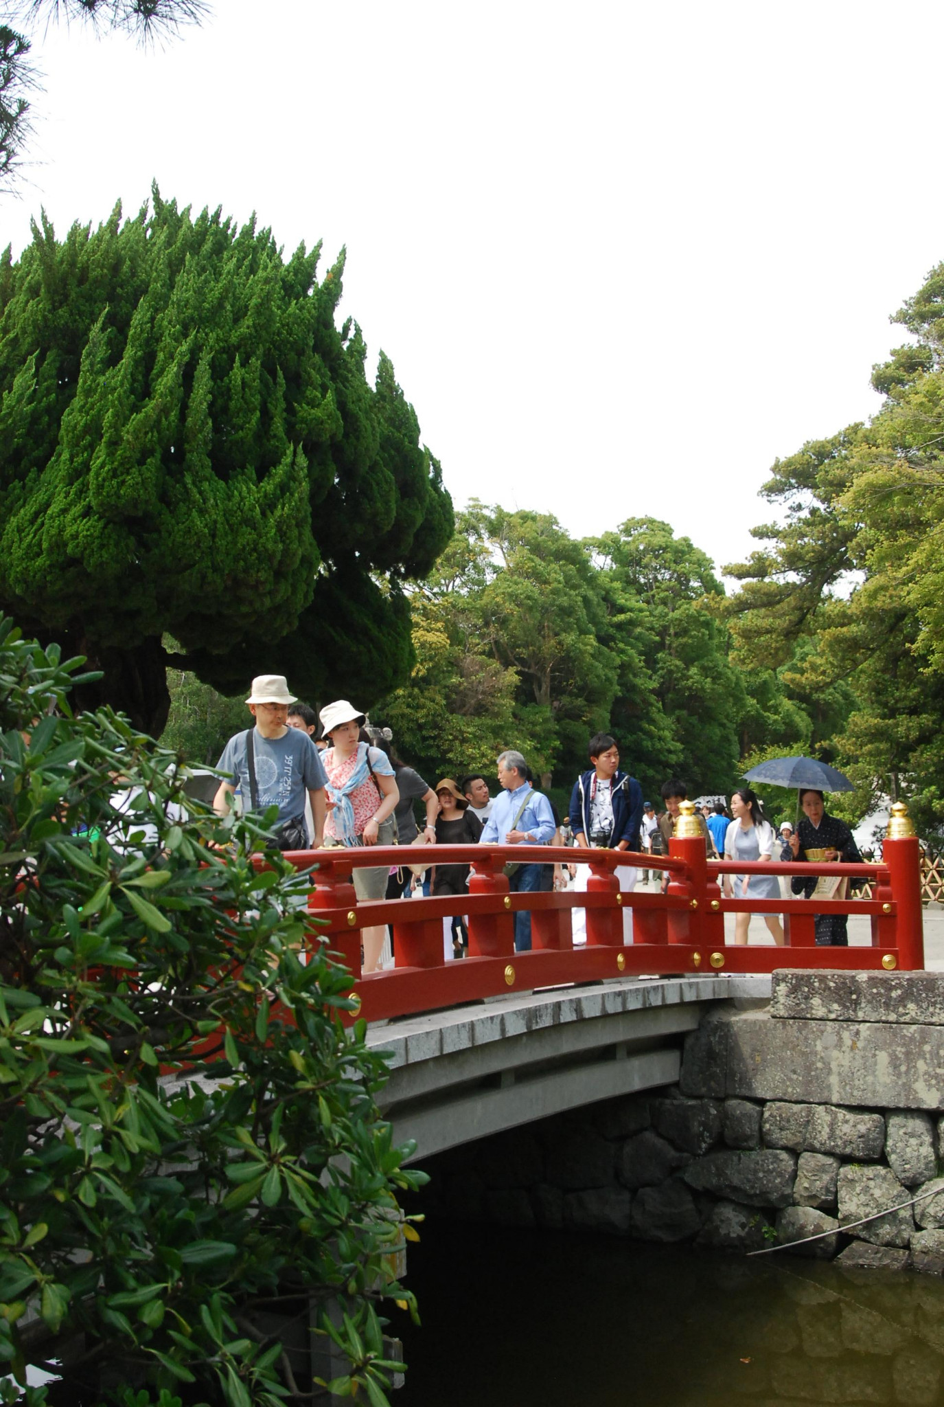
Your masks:
<svg viewBox="0 0 944 1407"><path fill-rule="evenodd" d="M215 0L158 52L35 37L3 242L152 176L342 243L457 505L653 514L719 564L775 456L874 412L888 317L944 259L938 0ZM929 68L930 63L930 68Z"/></svg>

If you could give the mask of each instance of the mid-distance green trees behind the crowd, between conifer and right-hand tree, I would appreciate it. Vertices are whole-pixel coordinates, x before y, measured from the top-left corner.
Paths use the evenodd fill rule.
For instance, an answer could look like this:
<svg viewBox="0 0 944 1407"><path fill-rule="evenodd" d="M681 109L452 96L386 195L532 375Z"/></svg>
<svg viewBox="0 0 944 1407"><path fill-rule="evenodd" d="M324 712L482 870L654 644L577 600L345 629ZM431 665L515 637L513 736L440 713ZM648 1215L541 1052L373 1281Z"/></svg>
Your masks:
<svg viewBox="0 0 944 1407"><path fill-rule="evenodd" d="M712 564L667 523L633 518L574 542L546 514L473 502L412 595L416 666L374 716L425 774L491 775L519 747L549 784L587 767L611 727L657 791L681 775L729 791L739 751L806 740L810 719L771 668L729 658Z"/></svg>

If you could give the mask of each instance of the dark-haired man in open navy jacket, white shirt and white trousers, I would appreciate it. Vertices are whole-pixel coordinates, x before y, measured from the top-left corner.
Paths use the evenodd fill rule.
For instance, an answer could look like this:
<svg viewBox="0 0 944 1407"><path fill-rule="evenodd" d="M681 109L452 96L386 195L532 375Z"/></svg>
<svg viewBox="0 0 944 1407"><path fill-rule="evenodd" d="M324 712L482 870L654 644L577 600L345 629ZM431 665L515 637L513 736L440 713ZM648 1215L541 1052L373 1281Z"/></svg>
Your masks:
<svg viewBox="0 0 944 1407"><path fill-rule="evenodd" d="M578 847L639 851L639 827L643 820L643 789L634 777L619 770L619 749L609 733L589 740L589 771L581 772L570 798L570 825ZM618 865L619 888L636 885L634 865ZM587 892L589 868L577 867L574 889ZM623 941L632 943L632 913L623 913ZM587 915L574 909L574 941L585 941Z"/></svg>

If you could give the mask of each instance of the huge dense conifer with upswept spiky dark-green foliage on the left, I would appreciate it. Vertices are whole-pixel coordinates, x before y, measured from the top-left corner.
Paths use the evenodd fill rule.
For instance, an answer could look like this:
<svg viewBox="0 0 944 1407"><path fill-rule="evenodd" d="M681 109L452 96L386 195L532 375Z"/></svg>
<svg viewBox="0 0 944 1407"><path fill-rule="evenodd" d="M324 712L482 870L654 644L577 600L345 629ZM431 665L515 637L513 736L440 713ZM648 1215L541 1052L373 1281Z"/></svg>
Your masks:
<svg viewBox="0 0 944 1407"><path fill-rule="evenodd" d="M438 461L335 312L343 255L153 208L0 263L0 605L158 736L162 637L224 694L279 671L363 706L412 663L402 584L452 533Z"/></svg>

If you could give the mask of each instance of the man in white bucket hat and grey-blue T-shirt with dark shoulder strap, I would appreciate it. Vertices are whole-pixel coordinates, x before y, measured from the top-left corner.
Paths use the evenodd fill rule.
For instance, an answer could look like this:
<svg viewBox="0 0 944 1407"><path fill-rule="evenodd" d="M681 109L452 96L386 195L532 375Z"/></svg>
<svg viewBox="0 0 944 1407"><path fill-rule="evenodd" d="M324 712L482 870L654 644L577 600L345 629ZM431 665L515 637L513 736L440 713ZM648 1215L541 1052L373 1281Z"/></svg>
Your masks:
<svg viewBox="0 0 944 1407"><path fill-rule="evenodd" d="M281 850L308 848L305 794L311 802L315 848L324 839L328 809L328 777L318 749L307 733L286 723L288 705L297 702L283 674L259 674L246 699L256 726L231 737L217 763L218 770L228 772L232 781L219 784L214 810L219 816L228 813L236 785L242 792L243 810L277 806L276 834Z"/></svg>

